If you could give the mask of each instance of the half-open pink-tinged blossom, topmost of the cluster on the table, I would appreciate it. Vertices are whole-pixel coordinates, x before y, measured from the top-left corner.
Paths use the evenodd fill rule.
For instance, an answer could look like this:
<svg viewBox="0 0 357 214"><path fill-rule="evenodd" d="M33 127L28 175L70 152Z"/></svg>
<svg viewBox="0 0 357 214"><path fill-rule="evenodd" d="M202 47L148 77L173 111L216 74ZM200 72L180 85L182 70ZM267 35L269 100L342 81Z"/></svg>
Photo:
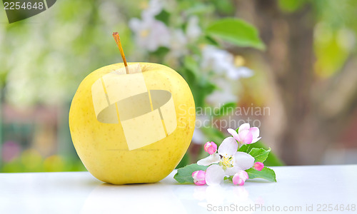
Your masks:
<svg viewBox="0 0 357 214"><path fill-rule="evenodd" d="M251 128L249 123L243 123L239 126L238 133L232 128L228 128L227 131L234 139L236 139L236 141L238 141L238 143L242 144L256 143L256 141L261 139L261 137L259 137L259 128Z"/></svg>

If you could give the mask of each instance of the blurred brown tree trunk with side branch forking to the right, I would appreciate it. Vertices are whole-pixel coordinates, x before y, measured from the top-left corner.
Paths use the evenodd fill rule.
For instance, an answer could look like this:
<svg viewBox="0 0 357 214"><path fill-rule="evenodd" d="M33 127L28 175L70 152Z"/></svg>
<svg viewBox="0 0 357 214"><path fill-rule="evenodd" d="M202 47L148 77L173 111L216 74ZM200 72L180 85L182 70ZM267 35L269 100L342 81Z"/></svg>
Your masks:
<svg viewBox="0 0 357 214"><path fill-rule="evenodd" d="M326 148L341 143L341 131L353 120L351 115L357 115L356 56L335 76L316 79L313 6L286 13L277 2L237 0L236 16L257 26L267 46L265 52L254 54L268 65L271 86L283 106L279 155L288 165L321 164Z"/></svg>

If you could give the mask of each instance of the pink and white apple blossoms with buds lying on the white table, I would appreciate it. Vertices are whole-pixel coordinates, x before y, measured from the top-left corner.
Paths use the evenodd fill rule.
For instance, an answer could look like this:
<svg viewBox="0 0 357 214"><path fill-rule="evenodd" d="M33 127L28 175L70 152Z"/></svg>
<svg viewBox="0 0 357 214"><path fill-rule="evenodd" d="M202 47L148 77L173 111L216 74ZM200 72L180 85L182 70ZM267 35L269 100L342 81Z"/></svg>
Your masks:
<svg viewBox="0 0 357 214"><path fill-rule="evenodd" d="M264 165L261 162L254 162L253 156L248 153L238 151L239 145L256 143L259 137L259 128L250 127L249 123L243 123L238 133L228 128L231 137L225 138L221 146L217 147L214 142L207 142L204 151L209 156L197 162L198 165L206 165L206 171L196 170L192 173L193 182L196 185L218 185L225 177L231 177L234 185L243 185L249 178L246 170L254 168L262 170Z"/></svg>

